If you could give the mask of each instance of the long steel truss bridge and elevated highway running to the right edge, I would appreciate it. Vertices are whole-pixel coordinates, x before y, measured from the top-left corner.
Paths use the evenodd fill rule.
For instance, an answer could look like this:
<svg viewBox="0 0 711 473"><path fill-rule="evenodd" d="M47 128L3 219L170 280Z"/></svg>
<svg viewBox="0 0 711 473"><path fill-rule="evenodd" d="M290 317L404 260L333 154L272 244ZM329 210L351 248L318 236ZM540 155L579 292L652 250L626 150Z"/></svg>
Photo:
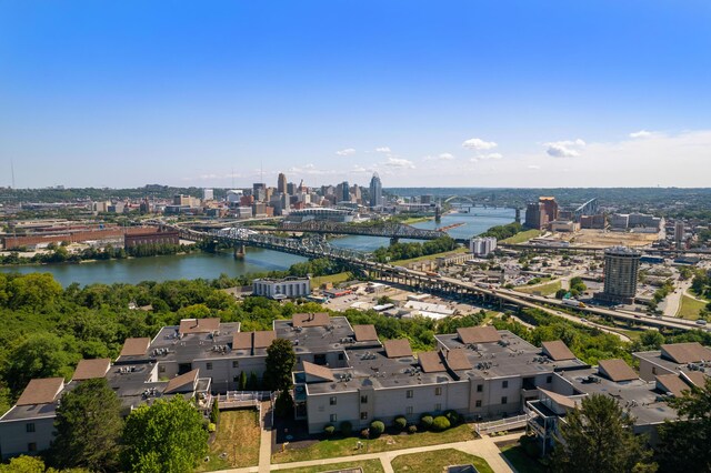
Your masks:
<svg viewBox="0 0 711 473"><path fill-rule="evenodd" d="M453 278L431 275L421 271L409 270L373 260L371 253L347 250L330 245L322 238L287 239L260 234L246 229L224 229L210 232L199 232L181 227L171 227L180 232L180 238L192 241L213 240L236 248L256 246L267 250L282 251L306 258L328 258L344 263L354 270L362 271L369 276L394 284L401 284L418 290L443 295L468 295L482 302L492 302L500 305L510 304L515 308L542 309L552 312L552 308L563 308L562 301L547 299L540 295L525 294L504 289L490 289L475 285L471 282L460 281ZM548 306L548 308L547 308ZM570 309L565 306L565 309ZM611 318L637 324L655 326L660 329L692 330L698 329L693 322L685 323L677 320L657 318L638 319L638 314L612 311L598 306L574 308L577 312L590 313L603 318Z"/></svg>

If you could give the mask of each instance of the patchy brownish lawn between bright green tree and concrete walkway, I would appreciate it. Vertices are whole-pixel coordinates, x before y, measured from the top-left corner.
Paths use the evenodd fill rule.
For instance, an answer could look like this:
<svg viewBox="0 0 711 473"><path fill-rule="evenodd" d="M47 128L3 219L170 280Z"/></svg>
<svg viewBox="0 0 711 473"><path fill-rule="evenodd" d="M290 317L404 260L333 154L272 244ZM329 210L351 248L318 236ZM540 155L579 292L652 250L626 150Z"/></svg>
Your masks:
<svg viewBox="0 0 711 473"><path fill-rule="evenodd" d="M259 414L257 411L220 413L218 434L210 444L210 461L198 471L254 466L259 463ZM227 453L224 459L220 454Z"/></svg>

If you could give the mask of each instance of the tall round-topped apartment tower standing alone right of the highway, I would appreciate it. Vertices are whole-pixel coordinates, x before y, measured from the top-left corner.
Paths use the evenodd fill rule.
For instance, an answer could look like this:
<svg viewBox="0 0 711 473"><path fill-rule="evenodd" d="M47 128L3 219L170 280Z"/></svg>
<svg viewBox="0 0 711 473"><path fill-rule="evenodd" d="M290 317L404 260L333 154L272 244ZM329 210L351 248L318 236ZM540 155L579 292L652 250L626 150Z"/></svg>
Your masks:
<svg viewBox="0 0 711 473"><path fill-rule="evenodd" d="M604 290L601 299L632 303L637 293L637 273L642 254L627 246L604 250Z"/></svg>

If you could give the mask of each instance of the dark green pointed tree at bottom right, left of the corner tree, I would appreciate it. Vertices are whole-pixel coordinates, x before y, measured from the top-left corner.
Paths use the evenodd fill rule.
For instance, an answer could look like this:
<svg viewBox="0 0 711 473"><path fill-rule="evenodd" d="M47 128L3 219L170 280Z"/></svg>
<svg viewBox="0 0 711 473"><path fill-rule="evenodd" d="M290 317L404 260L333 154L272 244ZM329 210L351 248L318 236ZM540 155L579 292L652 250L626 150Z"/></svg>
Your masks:
<svg viewBox="0 0 711 473"><path fill-rule="evenodd" d="M555 472L623 473L654 471L644 437L632 432L634 419L610 396L592 394L560 424L551 466Z"/></svg>

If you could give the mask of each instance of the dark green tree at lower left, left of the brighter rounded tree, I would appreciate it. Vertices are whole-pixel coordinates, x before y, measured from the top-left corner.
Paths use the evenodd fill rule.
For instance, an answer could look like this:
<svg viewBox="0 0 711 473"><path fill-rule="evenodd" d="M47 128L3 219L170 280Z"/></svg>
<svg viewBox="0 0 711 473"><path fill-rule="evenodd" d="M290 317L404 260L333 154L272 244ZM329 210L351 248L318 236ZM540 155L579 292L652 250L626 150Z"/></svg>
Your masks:
<svg viewBox="0 0 711 473"><path fill-rule="evenodd" d="M103 378L82 381L62 395L54 429L51 457L58 466L92 471L118 466L121 401Z"/></svg>

